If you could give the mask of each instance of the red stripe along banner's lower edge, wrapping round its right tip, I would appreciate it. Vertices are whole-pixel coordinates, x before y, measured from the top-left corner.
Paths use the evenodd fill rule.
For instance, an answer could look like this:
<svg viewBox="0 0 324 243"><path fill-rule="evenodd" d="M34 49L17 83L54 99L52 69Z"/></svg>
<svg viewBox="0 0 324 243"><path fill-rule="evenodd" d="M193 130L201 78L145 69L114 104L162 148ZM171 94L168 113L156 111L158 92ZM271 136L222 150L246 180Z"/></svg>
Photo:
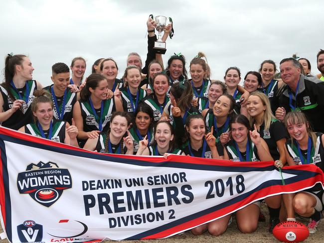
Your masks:
<svg viewBox="0 0 324 243"><path fill-rule="evenodd" d="M243 208L245 205L248 205L251 203L252 198L262 199L262 198L266 198L268 195L278 195L278 194L281 194L282 192L288 193L288 192L301 191L299 189L299 188L301 188L301 185L303 185L304 188L308 188L308 187L311 188L314 186L314 184L316 182L321 182L321 181L322 181L322 186L323 186L324 174L321 173L321 169L316 165L314 165L314 166L313 165L305 165L305 166L307 166L308 171L313 171L313 172L320 173L320 174L316 175L312 178L306 179L306 180L301 180L301 181L298 181L295 183L291 183L291 184L289 184L289 187L287 187L285 185L274 185L271 187L263 188L259 191L252 193L249 197L247 197L237 203L234 203L226 208L223 208L221 210L215 211L210 214L206 214L206 215L196 218L194 220L188 221L181 225L175 226L168 230L159 232L157 234L154 234L154 235L142 238L142 239L148 240L148 239L165 238L165 237L173 235L177 232L181 232L186 229L197 227L198 225L204 224L205 222L211 221L213 219L221 218L222 216L225 216L225 215L228 215L230 213L237 211L239 208ZM297 165L297 166L289 166L289 168L293 167L295 169L295 167L296 167L299 170L305 170L305 166ZM303 167L304 169L301 167ZM270 192L269 192L269 189L271 189ZM288 189L290 189L290 190L288 190ZM255 201L258 201L258 200L255 200Z"/></svg>

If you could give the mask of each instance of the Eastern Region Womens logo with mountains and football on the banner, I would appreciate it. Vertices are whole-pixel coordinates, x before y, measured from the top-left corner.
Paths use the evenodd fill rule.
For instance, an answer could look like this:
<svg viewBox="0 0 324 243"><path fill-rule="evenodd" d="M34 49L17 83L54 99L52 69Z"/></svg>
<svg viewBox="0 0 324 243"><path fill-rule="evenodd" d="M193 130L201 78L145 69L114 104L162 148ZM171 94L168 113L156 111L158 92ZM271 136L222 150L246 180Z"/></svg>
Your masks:
<svg viewBox="0 0 324 243"><path fill-rule="evenodd" d="M62 169L56 163L31 163L26 171L17 176L20 194L29 194L37 203L50 207L62 195L63 190L72 187L72 178L68 169Z"/></svg>

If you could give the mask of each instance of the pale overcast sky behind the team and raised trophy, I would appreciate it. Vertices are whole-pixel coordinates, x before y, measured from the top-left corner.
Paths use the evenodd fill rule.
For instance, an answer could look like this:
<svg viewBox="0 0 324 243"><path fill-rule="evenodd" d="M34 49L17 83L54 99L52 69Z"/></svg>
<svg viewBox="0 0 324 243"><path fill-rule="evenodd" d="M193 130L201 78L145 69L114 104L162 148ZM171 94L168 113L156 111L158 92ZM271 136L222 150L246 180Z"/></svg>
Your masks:
<svg viewBox="0 0 324 243"><path fill-rule="evenodd" d="M9 0L0 3L0 66L7 53L28 55L33 79L51 83L51 66L87 60L86 76L98 58L113 57L121 77L130 52L143 62L150 14L170 16L174 37L167 39L164 66L175 52L187 61L203 51L212 79L223 80L230 66L258 70L266 59L298 53L311 61L324 49L323 0ZM3 76L2 76L3 79Z"/></svg>

